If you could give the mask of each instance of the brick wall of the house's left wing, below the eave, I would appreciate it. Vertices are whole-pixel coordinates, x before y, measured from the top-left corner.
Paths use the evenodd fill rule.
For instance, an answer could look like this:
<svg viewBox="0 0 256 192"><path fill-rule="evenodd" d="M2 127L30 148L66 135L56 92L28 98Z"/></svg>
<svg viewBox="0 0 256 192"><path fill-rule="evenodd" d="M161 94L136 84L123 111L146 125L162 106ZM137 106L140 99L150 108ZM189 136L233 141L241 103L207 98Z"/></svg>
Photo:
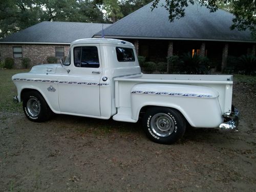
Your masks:
<svg viewBox="0 0 256 192"><path fill-rule="evenodd" d="M69 52L69 45L39 45L39 44L0 44L1 60L13 57L13 47L22 47L23 58L31 59L31 66L47 63L47 57L55 57L55 47L64 47L65 57ZM14 68L22 68L22 58L14 58Z"/></svg>

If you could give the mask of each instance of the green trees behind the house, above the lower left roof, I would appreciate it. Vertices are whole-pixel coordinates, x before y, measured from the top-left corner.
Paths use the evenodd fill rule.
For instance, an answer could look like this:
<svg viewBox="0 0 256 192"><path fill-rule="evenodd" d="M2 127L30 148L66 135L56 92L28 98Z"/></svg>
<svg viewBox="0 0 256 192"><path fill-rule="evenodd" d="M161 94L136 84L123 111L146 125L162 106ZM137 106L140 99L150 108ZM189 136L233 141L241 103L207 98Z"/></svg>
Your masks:
<svg viewBox="0 0 256 192"><path fill-rule="evenodd" d="M0 38L44 21L110 23L151 0L2 0ZM103 14L101 10L106 10Z"/></svg>

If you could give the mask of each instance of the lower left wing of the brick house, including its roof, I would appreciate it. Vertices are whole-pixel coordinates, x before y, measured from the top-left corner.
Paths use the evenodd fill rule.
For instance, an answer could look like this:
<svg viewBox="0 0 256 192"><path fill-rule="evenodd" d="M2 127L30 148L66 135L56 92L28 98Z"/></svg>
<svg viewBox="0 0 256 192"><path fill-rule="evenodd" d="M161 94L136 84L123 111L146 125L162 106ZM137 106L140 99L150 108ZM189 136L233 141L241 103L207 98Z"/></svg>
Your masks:
<svg viewBox="0 0 256 192"><path fill-rule="evenodd" d="M111 24L104 24L103 28ZM22 58L31 59L31 65L47 63L47 57L65 58L70 42L91 38L102 30L102 24L76 22L41 22L0 39L0 58L14 58L14 68L22 68Z"/></svg>

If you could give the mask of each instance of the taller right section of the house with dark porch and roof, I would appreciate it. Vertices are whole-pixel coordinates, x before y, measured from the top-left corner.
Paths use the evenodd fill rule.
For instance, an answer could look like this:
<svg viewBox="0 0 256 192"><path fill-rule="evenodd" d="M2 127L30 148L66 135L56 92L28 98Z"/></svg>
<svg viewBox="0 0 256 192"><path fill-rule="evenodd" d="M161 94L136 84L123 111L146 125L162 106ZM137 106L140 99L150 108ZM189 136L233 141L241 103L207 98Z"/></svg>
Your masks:
<svg viewBox="0 0 256 192"><path fill-rule="evenodd" d="M150 3L120 19L104 29L105 37L133 42L137 54L150 61L166 61L167 56L190 52L215 60L222 70L227 56L255 55L256 40L250 31L230 30L234 17L231 13L221 9L209 13L195 3L185 8L185 17L170 23L162 3L164 0L153 11Z"/></svg>

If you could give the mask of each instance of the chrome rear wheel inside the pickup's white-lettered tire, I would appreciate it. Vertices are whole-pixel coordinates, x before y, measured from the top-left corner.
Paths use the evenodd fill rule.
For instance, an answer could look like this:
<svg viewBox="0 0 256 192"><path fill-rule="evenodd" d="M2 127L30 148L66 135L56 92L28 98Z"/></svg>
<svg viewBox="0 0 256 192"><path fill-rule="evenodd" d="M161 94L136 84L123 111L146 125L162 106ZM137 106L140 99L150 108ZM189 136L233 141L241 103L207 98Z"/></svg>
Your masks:
<svg viewBox="0 0 256 192"><path fill-rule="evenodd" d="M160 137L168 137L175 128L174 120L165 113L157 113L152 117L151 129Z"/></svg>

